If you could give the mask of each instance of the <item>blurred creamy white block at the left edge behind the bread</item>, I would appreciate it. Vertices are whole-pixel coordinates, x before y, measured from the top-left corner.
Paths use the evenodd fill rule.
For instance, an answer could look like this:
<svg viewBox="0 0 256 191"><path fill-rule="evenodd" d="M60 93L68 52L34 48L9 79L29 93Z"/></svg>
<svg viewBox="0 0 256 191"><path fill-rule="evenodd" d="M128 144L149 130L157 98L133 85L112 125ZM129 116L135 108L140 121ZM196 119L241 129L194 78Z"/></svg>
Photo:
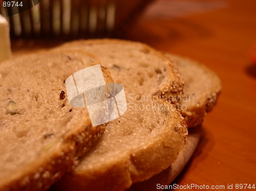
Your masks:
<svg viewBox="0 0 256 191"><path fill-rule="evenodd" d="M0 14L0 62L12 57L9 23Z"/></svg>

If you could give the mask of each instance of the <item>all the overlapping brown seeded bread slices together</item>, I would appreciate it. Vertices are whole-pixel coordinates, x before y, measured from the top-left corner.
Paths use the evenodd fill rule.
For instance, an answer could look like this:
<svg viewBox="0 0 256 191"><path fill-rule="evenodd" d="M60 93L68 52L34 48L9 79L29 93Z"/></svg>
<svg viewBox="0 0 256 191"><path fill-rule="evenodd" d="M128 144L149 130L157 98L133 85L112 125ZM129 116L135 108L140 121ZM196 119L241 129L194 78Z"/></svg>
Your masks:
<svg viewBox="0 0 256 191"><path fill-rule="evenodd" d="M106 83L123 85L127 111L92 127L87 109L69 105L65 79L99 63ZM202 123L221 91L195 61L111 39L6 61L0 79L0 190L125 190L174 164L178 172L187 127Z"/></svg>

